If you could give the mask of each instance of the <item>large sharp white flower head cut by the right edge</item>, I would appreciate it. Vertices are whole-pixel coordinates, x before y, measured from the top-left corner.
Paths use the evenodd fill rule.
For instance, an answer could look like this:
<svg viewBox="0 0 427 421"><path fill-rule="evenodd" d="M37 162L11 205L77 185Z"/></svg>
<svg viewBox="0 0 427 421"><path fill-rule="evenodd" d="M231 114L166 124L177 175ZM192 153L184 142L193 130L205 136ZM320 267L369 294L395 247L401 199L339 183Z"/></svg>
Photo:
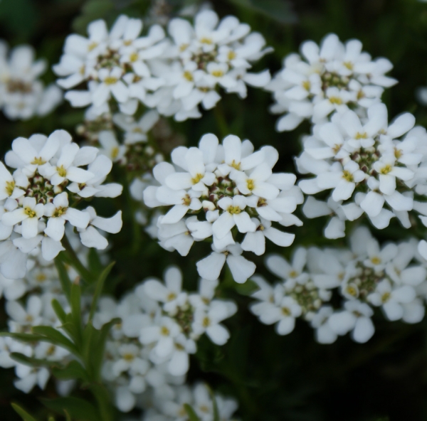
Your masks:
<svg viewBox="0 0 427 421"><path fill-rule="evenodd" d="M364 213L378 229L395 216L410 228L411 210L421 213L423 221L427 215L425 203L416 200L426 194L426 130L412 129L415 119L408 113L388 125L384 104L367 112L363 119L347 110L316 125L296 160L300 173L315 174L298 184L304 193L332 189L326 202L310 196L302 209L307 218L334 215L325 229L327 238L344 237L345 220Z"/></svg>

